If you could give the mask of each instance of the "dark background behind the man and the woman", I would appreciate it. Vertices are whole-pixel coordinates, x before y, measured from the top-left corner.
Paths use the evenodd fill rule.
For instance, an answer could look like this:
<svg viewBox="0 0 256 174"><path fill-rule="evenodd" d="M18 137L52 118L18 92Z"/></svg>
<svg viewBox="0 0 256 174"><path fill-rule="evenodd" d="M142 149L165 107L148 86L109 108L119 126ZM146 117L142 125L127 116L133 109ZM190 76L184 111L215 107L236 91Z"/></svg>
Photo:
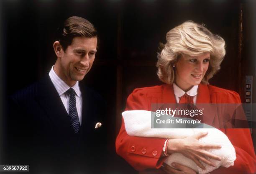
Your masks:
<svg viewBox="0 0 256 174"><path fill-rule="evenodd" d="M161 84L155 67L159 42L186 20L205 23L224 38L227 54L210 84L235 90L245 102L245 76L256 72L253 9L253 0L2 0L2 114L8 95L49 73L56 61L54 33L73 15L92 22L99 33L95 63L84 82L107 102L113 151L126 98L134 88ZM118 165L133 171L121 158Z"/></svg>

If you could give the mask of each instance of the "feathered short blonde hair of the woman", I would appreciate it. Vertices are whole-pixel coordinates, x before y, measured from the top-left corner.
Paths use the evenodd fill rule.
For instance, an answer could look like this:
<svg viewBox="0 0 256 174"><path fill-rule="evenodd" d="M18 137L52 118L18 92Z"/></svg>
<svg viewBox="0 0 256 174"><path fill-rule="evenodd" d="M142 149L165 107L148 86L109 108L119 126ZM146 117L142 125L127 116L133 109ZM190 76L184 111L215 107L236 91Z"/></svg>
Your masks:
<svg viewBox="0 0 256 174"><path fill-rule="evenodd" d="M182 54L198 56L210 53L210 65L202 79L204 84L209 84L208 80L220 70L220 63L226 54L225 41L222 37L212 34L204 25L191 20L166 33L166 44L161 44L161 47L156 64L157 75L162 82L167 84L174 82L175 68L173 65Z"/></svg>

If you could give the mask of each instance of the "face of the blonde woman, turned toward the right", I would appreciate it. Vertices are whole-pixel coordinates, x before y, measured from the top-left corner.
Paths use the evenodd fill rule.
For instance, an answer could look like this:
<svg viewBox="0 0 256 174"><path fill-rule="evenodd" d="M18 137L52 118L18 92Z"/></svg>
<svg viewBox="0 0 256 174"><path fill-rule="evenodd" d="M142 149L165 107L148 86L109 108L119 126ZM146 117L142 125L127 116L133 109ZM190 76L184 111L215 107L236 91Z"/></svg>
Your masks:
<svg viewBox="0 0 256 174"><path fill-rule="evenodd" d="M185 92L200 84L209 67L210 53L200 56L182 54L176 63L175 83Z"/></svg>

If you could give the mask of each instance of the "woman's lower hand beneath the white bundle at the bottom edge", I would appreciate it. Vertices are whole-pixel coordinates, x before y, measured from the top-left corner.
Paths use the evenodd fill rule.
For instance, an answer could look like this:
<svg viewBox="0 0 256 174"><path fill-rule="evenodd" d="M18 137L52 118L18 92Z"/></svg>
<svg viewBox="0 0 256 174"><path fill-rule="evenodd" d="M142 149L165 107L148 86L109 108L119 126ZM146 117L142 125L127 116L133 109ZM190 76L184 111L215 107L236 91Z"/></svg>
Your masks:
<svg viewBox="0 0 256 174"><path fill-rule="evenodd" d="M193 169L190 169L187 166L183 166L181 164L178 163L172 163L172 167L170 167L169 165L163 163L164 167L161 167L161 169L163 171L165 171L167 174L196 174L197 172Z"/></svg>

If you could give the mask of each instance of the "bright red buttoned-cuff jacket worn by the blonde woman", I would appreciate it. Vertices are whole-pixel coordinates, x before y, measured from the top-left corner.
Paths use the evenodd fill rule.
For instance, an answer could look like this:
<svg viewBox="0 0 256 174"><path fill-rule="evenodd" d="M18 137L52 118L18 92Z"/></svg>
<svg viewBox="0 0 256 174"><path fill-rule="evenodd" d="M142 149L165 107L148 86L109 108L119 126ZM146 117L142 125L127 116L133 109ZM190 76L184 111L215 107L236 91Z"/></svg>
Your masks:
<svg viewBox="0 0 256 174"><path fill-rule="evenodd" d="M145 87L135 89L129 95L125 110L151 110L151 103L176 103L172 85ZM197 103L241 103L236 92L200 84L198 87ZM254 174L256 172L255 153L249 129L220 129L236 149L236 161L229 168L220 167L211 174ZM129 136L125 131L124 122L115 146L118 155L122 156L136 170L158 169L165 158L160 158L164 141L163 138L148 138ZM145 153L146 152L146 153Z"/></svg>

